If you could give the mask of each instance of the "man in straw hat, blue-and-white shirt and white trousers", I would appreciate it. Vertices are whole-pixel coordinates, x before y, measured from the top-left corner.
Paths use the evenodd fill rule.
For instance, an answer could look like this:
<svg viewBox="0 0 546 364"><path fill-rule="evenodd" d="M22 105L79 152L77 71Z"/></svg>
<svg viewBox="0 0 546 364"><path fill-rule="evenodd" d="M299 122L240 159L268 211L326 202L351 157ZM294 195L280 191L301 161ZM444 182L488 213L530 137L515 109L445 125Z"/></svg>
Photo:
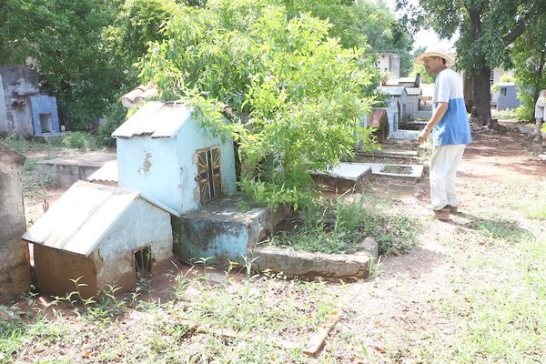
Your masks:
<svg viewBox="0 0 546 364"><path fill-rule="evenodd" d="M464 148L470 143L470 124L464 105L462 81L450 67L455 60L444 49L429 48L415 63L436 76L432 116L417 141L432 137L434 150L430 159L430 203L436 218L447 220L456 213L459 200L455 194L455 176Z"/></svg>

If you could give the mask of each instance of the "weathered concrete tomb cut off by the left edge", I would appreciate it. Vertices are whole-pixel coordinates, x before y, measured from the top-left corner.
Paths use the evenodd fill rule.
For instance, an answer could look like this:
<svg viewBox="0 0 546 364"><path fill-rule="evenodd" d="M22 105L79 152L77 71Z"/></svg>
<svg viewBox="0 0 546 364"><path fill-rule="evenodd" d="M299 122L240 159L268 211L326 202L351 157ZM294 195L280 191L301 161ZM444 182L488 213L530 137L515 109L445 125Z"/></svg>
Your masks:
<svg viewBox="0 0 546 364"><path fill-rule="evenodd" d="M29 288L28 246L21 167L25 156L0 143L0 302L17 299Z"/></svg>

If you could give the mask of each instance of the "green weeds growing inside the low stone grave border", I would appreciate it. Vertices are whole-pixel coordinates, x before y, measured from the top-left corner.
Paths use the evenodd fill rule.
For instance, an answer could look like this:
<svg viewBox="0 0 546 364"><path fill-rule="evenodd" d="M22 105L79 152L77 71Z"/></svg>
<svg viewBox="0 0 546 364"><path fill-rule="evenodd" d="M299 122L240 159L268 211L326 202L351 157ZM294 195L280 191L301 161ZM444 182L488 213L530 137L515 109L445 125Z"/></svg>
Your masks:
<svg viewBox="0 0 546 364"><path fill-rule="evenodd" d="M365 202L365 201L371 201ZM269 238L281 248L329 254L359 250L367 236L376 239L380 254L398 254L416 244L420 223L371 197L359 201L319 200L302 209L296 227Z"/></svg>

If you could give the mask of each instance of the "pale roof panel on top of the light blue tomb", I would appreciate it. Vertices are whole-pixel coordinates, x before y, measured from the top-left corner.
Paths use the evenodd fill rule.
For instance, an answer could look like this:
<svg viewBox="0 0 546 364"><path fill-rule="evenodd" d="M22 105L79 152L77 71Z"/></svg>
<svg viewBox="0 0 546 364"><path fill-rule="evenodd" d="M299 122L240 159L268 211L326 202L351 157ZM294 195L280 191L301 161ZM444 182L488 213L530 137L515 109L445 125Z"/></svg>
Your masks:
<svg viewBox="0 0 546 364"><path fill-rule="evenodd" d="M190 116L191 110L184 104L150 101L119 126L112 136L174 137Z"/></svg>

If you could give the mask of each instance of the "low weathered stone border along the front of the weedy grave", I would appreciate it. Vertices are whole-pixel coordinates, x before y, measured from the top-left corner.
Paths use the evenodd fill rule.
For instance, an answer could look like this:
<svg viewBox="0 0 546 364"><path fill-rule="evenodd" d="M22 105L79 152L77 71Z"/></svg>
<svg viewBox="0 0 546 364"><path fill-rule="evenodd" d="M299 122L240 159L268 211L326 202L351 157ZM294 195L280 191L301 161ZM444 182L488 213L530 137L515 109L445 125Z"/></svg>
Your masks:
<svg viewBox="0 0 546 364"><path fill-rule="evenodd" d="M379 245L364 238L355 254L324 254L258 246L251 253L252 270L269 271L287 278L324 278L326 280L364 279L379 258Z"/></svg>

